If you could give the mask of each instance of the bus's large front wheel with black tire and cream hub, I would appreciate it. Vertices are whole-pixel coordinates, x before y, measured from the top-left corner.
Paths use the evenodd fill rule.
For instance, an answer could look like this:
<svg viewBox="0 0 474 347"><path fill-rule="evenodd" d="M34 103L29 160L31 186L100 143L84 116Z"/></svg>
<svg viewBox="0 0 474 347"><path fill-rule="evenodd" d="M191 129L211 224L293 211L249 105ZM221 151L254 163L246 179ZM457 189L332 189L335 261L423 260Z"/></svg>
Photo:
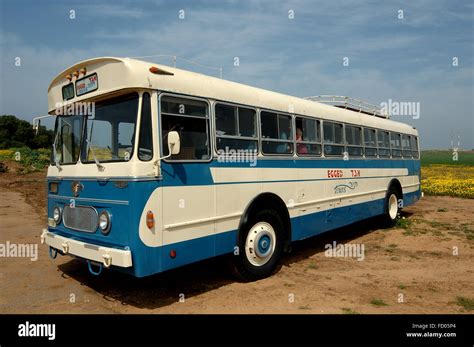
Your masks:
<svg viewBox="0 0 474 347"><path fill-rule="evenodd" d="M231 259L234 275L245 282L272 275L283 253L283 235L283 222L275 211L266 209L251 217L239 232L239 252Z"/></svg>

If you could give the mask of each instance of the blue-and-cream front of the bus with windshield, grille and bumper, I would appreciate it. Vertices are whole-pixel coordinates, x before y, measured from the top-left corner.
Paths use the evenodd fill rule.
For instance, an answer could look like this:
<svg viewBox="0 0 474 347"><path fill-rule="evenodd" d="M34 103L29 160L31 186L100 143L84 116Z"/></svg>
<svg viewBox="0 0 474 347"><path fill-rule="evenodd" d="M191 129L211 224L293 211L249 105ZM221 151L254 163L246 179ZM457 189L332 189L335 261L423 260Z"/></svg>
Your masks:
<svg viewBox="0 0 474 347"><path fill-rule="evenodd" d="M124 91L83 101L81 110L56 118L47 178L54 252L89 258L95 266L108 265L109 257L112 268L135 276L159 268L159 251L139 238L144 206L160 184L153 160L155 100L153 91Z"/></svg>

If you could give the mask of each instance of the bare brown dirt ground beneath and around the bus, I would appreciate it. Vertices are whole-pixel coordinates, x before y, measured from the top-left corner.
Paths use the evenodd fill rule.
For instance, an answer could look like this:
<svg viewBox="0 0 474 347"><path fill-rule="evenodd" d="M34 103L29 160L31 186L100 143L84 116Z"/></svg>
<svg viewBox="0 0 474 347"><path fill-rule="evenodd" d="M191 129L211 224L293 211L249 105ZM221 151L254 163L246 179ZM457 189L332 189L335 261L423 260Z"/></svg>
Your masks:
<svg viewBox="0 0 474 347"><path fill-rule="evenodd" d="M39 244L44 190L43 173L0 174L1 244ZM397 227L373 219L298 242L253 283L235 281L223 258L144 279L95 277L38 245L37 261L0 258L0 313L472 313L473 216L472 199L425 197ZM333 241L363 244L365 259L326 257Z"/></svg>

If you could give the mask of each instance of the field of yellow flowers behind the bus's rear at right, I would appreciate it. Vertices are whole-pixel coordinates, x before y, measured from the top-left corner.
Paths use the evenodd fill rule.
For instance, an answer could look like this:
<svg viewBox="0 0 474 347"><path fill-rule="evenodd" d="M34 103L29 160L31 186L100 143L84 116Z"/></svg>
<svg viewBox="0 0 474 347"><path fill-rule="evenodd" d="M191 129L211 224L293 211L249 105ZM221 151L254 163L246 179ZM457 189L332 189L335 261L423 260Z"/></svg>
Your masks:
<svg viewBox="0 0 474 347"><path fill-rule="evenodd" d="M474 166L422 166L421 178L421 187L425 194L474 199Z"/></svg>

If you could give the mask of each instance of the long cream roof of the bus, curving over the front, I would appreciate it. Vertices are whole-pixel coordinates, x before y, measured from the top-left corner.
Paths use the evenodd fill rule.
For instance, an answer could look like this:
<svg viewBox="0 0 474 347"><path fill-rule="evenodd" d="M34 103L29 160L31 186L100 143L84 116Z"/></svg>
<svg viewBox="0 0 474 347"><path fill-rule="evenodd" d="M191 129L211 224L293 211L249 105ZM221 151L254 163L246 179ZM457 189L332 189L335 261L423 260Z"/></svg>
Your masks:
<svg viewBox="0 0 474 347"><path fill-rule="evenodd" d="M156 67L157 71L154 73L151 72L150 67ZM67 76L71 77L73 73L79 72L81 69L85 69L83 71L86 72L83 75L86 76L94 72L97 73L98 89L63 102L62 87L70 83ZM83 76L80 75L78 79L82 77ZM85 101L93 97L130 88L157 89L165 92L210 98L278 112L313 116L323 120L359 124L413 135L418 134L415 128L405 123L166 65L117 57L99 57L85 60L59 73L48 88L48 109L50 113L54 113L56 109L55 105L58 103L61 103L62 106L66 106L74 102Z"/></svg>

